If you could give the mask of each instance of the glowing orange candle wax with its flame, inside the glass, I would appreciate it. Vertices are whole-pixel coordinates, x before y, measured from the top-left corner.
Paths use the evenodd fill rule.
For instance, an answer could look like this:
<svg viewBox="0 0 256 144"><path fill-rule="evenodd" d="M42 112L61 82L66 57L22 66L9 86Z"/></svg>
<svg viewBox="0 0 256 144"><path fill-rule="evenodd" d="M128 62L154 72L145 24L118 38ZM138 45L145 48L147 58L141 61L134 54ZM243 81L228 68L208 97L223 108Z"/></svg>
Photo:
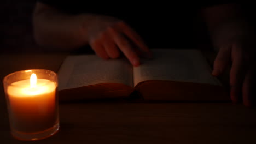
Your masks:
<svg viewBox="0 0 256 144"><path fill-rule="evenodd" d="M15 81L7 86L10 127L16 138L26 140L33 135L31 140L41 139L49 135L44 131L56 124L59 128L56 87L55 81L37 79L34 73L30 79Z"/></svg>

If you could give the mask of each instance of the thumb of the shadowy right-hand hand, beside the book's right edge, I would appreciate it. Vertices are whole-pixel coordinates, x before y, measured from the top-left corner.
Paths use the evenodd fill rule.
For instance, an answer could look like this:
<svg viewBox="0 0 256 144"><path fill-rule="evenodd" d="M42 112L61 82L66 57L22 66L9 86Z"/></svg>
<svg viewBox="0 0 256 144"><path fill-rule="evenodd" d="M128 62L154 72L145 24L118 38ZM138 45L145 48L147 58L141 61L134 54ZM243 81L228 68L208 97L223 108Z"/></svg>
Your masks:
<svg viewBox="0 0 256 144"><path fill-rule="evenodd" d="M224 69L228 66L231 59L231 45L223 46L219 49L213 65L212 75L219 76L223 73Z"/></svg>

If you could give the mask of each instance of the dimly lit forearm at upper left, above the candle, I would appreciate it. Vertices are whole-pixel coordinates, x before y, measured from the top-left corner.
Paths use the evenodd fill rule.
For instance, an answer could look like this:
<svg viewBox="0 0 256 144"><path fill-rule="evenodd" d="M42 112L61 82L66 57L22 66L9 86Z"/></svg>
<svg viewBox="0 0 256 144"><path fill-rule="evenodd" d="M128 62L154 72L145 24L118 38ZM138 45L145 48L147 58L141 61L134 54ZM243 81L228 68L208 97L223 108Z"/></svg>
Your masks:
<svg viewBox="0 0 256 144"><path fill-rule="evenodd" d="M68 15L37 3L33 15L34 37L51 50L69 51L87 43L81 15Z"/></svg>

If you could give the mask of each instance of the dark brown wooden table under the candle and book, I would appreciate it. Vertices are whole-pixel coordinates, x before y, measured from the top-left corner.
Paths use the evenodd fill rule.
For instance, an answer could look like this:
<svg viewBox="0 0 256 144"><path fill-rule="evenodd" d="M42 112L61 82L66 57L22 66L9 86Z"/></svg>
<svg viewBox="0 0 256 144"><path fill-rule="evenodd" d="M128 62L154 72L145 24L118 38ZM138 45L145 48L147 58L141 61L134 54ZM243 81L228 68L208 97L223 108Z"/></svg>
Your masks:
<svg viewBox="0 0 256 144"><path fill-rule="evenodd" d="M0 55L1 79L23 69L57 72L66 54ZM256 111L231 103L60 104L60 131L40 141L11 137L2 82L0 143L256 143Z"/></svg>

